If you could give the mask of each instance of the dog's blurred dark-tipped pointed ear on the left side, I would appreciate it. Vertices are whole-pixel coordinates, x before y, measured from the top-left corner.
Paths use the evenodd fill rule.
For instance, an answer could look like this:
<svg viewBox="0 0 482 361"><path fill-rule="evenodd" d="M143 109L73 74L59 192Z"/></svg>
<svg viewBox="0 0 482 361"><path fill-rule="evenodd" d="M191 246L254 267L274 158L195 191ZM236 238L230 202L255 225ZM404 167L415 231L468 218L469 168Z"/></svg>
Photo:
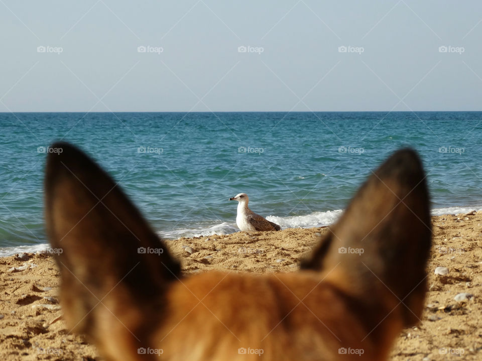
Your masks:
<svg viewBox="0 0 482 361"><path fill-rule="evenodd" d="M68 143L52 147L61 152L47 158L47 233L59 253L67 324L89 333L100 301L148 302L179 277L180 265L107 173Z"/></svg>

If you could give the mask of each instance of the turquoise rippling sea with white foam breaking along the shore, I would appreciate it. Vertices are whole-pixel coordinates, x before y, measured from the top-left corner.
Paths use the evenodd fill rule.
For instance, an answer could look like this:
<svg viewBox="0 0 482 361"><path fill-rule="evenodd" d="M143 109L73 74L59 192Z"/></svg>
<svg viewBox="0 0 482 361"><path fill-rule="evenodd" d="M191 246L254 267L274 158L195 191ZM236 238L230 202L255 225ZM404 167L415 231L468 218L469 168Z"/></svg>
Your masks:
<svg viewBox="0 0 482 361"><path fill-rule="evenodd" d="M236 231L228 198L240 192L283 227L329 223L370 169L407 145L424 161L432 208L478 208L481 121L482 112L0 113L0 247L46 242L39 147L54 140L84 149L177 238Z"/></svg>

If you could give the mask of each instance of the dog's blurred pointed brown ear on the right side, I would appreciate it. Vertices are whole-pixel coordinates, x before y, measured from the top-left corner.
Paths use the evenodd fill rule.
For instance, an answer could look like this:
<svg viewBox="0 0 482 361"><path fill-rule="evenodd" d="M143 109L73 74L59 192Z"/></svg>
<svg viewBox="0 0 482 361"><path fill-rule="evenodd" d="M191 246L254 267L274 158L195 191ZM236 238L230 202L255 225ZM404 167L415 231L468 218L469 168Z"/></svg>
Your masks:
<svg viewBox="0 0 482 361"><path fill-rule="evenodd" d="M371 297L388 288L417 323L431 246L429 194L418 155L393 154L367 180L302 268L330 273L340 288ZM403 272L402 272L403 271ZM387 291L387 290L386 290ZM375 293L376 294L376 293Z"/></svg>

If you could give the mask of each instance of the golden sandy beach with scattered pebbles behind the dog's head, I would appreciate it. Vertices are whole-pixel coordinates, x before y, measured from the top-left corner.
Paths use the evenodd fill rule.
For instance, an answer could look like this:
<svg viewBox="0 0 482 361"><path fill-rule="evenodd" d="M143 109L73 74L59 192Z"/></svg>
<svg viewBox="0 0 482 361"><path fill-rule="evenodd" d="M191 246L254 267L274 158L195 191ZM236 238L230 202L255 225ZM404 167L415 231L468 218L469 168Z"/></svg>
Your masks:
<svg viewBox="0 0 482 361"><path fill-rule="evenodd" d="M422 322L400 334L390 359L425 361L461 356L457 359L478 360L482 358L482 212L438 216L432 222L429 292ZM317 233L325 231L323 227L238 232L180 238L167 244L182 260L185 274L212 269L294 272L314 246ZM447 267L448 274L435 275L436 267ZM59 282L49 254L0 258L0 359L101 359L83 336L66 328L58 304ZM469 295L454 300L460 293Z"/></svg>

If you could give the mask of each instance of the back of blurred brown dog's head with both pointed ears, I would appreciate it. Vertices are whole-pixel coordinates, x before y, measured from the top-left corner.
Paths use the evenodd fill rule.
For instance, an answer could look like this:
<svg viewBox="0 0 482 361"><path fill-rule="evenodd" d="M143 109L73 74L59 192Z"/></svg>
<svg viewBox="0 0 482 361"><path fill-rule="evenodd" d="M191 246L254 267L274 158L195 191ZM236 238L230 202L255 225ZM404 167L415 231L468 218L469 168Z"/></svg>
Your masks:
<svg viewBox="0 0 482 361"><path fill-rule="evenodd" d="M412 150L369 178L300 272L182 277L113 180L75 147L52 147L63 152L48 156L45 213L52 247L63 249L64 317L109 360L159 359L139 347L182 361L384 360L421 316L431 223Z"/></svg>

